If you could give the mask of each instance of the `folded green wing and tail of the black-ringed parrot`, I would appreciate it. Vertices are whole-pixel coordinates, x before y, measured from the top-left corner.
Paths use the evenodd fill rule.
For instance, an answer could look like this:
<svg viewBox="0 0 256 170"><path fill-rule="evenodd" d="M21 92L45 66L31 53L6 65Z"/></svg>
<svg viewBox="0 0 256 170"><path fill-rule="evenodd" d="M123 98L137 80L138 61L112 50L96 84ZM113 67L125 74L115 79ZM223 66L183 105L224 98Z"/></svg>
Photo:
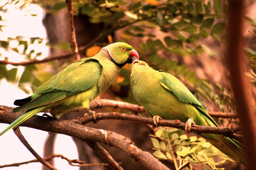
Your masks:
<svg viewBox="0 0 256 170"><path fill-rule="evenodd" d="M67 66L40 86L31 96L30 102L13 109L13 112L23 110L27 110L27 112L4 129L0 136L31 116L47 109L48 104L92 88L98 82L101 73L102 66L92 58L82 59Z"/></svg>

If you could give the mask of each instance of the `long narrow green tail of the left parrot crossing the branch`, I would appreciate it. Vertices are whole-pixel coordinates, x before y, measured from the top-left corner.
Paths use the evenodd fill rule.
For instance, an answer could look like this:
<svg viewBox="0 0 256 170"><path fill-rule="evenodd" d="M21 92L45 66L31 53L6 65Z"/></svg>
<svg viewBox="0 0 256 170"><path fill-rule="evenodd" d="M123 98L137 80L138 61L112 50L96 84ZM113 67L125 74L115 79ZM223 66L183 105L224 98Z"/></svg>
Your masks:
<svg viewBox="0 0 256 170"><path fill-rule="evenodd" d="M29 119L30 117L34 116L35 114L39 113L40 111L44 110L45 106L37 107L31 110L26 111L21 117L19 117L17 120L12 122L7 128L5 128L2 132L0 132L0 136L9 131L10 129L19 126L21 123L23 123L25 120Z"/></svg>

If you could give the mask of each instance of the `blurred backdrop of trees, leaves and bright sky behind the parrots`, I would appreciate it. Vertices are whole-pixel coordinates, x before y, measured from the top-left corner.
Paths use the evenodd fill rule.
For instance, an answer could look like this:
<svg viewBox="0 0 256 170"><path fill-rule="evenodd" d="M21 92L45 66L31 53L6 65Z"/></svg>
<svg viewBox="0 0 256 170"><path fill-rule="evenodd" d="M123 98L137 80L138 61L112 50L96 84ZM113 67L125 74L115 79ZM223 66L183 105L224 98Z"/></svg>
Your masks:
<svg viewBox="0 0 256 170"><path fill-rule="evenodd" d="M78 50L82 58L94 56L113 42L127 42L139 53L140 60L154 69L168 71L181 80L210 111L236 113L225 60L229 5L225 0L73 0ZM246 1L244 16L244 52L251 79L251 101L255 105L256 82L256 3ZM232 36L232 35L231 35ZM29 62L60 56L40 64ZM62 57L61 57L62 56ZM8 61L8 62L4 62ZM66 4L62 0L0 1L0 105L11 106L15 99L30 96L44 82L73 62L69 44ZM98 99L138 104L131 92L128 64L121 69L111 87ZM96 112L128 111L113 108ZM42 113L43 114L43 113ZM41 115L42 115L41 114ZM146 113L143 116L148 116ZM83 113L67 113L61 119L73 119ZM237 119L215 119L220 126L239 124ZM7 124L0 124L4 129ZM154 152L152 129L134 122L101 120L87 126L114 131L130 138L142 150ZM26 127L21 131L39 155L63 154L86 163L103 160L86 143L65 135L51 134ZM176 131L182 135L182 131ZM194 135L188 135L195 136ZM198 137L198 136L197 136ZM124 169L146 169L120 150L104 146ZM12 131L1 136L0 165L34 159ZM221 161L220 158L216 158ZM162 160L174 169L173 161ZM100 170L101 166L75 167L55 158L57 169ZM245 169L239 163L226 162L225 169ZM41 163L29 163L5 169L45 169ZM103 169L109 169L105 166ZM201 166L193 166L201 169Z"/></svg>

